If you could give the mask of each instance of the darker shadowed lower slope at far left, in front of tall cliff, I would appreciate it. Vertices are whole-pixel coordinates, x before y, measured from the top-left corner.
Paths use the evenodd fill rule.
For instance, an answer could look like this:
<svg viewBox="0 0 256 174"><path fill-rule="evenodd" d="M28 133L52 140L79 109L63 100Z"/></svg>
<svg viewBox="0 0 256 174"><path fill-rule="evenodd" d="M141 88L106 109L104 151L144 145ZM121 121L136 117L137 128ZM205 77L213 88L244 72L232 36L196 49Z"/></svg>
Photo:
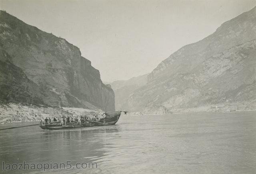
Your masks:
<svg viewBox="0 0 256 174"><path fill-rule="evenodd" d="M29 80L21 68L8 61L8 53L0 50L0 101L36 106L58 106L59 97Z"/></svg>

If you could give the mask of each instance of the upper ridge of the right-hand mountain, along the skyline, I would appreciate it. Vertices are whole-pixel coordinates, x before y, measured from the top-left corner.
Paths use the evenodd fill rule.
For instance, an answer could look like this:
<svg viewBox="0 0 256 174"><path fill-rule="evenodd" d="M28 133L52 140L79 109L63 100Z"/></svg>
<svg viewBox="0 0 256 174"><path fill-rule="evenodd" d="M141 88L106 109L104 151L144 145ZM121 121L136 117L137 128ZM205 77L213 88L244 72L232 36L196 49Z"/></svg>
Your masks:
<svg viewBox="0 0 256 174"><path fill-rule="evenodd" d="M214 33L201 41L186 45L170 55L148 75L148 81L164 75L170 77L176 72L189 72L212 55L255 39L255 21L256 7L223 23Z"/></svg>

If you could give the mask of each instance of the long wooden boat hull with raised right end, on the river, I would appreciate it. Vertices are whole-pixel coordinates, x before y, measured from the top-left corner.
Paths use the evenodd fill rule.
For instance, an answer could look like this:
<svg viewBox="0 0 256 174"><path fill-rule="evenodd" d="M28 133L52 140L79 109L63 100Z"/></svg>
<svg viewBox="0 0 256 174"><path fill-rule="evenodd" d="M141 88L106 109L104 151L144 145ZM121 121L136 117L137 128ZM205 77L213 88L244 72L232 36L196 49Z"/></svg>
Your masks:
<svg viewBox="0 0 256 174"><path fill-rule="evenodd" d="M106 117L98 121L87 119L83 123L71 122L71 123L67 123L66 125L61 125L60 123L50 123L50 124L41 123L39 126L42 129L58 130L58 129L74 129L74 128L80 128L80 127L114 125L120 118L121 112L122 111L107 112ZM126 112L127 111L124 111L124 113Z"/></svg>

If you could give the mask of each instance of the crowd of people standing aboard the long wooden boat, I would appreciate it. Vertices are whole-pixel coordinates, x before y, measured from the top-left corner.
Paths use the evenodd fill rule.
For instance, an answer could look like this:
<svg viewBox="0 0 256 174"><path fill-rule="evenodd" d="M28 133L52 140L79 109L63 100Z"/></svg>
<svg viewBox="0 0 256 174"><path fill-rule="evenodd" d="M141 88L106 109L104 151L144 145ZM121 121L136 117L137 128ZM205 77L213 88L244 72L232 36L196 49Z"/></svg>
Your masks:
<svg viewBox="0 0 256 174"><path fill-rule="evenodd" d="M41 124L51 124L51 123L59 123L60 125L67 125L67 123L88 123L90 121L105 121L108 114L105 112L103 113L103 118L99 118L97 114L93 115L94 117L87 117L86 115L67 115L67 116L60 116L60 117L46 117L45 119L42 118Z"/></svg>

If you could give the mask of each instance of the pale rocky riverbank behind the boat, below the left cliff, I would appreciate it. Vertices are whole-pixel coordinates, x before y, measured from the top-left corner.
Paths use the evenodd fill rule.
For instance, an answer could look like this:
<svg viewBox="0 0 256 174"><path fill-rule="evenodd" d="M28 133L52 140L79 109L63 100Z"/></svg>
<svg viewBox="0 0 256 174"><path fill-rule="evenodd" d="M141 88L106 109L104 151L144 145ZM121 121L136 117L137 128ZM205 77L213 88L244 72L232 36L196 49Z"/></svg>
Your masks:
<svg viewBox="0 0 256 174"><path fill-rule="evenodd" d="M67 115L93 115L103 111L90 110L84 108L51 108L44 106L32 106L22 104L1 104L0 105L0 124L15 123L23 121L40 121L45 117L60 117Z"/></svg>

